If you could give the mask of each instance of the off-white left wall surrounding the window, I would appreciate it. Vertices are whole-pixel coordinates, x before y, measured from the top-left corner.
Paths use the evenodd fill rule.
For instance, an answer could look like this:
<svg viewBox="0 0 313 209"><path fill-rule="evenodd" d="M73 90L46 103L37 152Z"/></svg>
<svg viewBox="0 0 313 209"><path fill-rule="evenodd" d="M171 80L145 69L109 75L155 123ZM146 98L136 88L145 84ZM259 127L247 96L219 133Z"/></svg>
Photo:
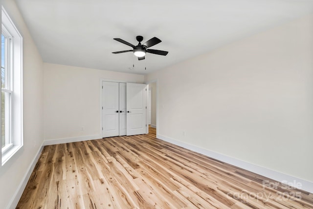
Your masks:
<svg viewBox="0 0 313 209"><path fill-rule="evenodd" d="M23 139L24 146L0 167L0 208L19 200L19 193L29 166L40 151L44 139L44 70L43 61L29 34L14 0L2 0L2 5L23 37ZM22 188L22 190L20 189ZM16 199L14 199L16 197Z"/></svg>

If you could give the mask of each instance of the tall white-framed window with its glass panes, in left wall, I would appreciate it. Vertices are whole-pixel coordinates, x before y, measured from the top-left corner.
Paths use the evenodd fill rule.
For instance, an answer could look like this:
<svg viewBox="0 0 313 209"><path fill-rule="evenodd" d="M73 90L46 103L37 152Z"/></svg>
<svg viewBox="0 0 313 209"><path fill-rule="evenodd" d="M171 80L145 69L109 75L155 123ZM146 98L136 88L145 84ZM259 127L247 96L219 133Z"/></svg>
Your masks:
<svg viewBox="0 0 313 209"><path fill-rule="evenodd" d="M22 36L3 6L1 18L1 165L3 165L23 145Z"/></svg>

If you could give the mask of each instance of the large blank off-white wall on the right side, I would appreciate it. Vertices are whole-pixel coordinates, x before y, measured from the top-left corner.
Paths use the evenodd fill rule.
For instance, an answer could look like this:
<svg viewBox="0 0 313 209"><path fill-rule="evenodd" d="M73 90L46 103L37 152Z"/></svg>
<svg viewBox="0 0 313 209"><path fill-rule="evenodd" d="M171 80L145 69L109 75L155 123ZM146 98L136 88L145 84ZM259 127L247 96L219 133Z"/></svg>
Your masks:
<svg viewBox="0 0 313 209"><path fill-rule="evenodd" d="M155 79L159 136L313 182L313 15Z"/></svg>

